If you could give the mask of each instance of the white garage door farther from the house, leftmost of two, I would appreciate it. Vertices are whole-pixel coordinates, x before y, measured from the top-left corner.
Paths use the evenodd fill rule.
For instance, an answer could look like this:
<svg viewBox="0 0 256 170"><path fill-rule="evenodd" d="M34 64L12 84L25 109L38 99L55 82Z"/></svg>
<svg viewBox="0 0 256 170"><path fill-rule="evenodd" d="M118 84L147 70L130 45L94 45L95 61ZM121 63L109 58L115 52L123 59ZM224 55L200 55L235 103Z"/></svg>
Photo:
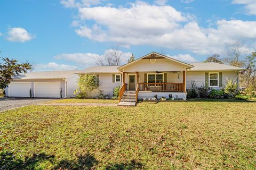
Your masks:
<svg viewBox="0 0 256 170"><path fill-rule="evenodd" d="M30 82L10 83L9 96L10 97L30 97L29 95L30 88L31 88Z"/></svg>

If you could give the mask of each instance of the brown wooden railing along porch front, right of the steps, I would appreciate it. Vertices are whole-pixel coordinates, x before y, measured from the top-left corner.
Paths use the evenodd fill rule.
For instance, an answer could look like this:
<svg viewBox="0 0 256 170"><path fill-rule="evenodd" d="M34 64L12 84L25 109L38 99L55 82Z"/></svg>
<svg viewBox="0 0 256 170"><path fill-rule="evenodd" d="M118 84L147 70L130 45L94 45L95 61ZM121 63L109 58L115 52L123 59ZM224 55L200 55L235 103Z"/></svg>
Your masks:
<svg viewBox="0 0 256 170"><path fill-rule="evenodd" d="M183 83L138 83L139 91L183 92Z"/></svg>

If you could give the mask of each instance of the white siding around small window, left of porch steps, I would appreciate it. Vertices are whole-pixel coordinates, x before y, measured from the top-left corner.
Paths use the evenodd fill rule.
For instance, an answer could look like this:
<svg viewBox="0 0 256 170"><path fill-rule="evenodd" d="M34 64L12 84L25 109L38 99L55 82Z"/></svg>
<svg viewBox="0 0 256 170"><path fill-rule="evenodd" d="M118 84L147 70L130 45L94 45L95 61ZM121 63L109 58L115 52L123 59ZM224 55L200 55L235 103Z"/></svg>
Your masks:
<svg viewBox="0 0 256 170"><path fill-rule="evenodd" d="M103 94L109 94L113 96L113 89L117 86L122 86L122 82L113 82L113 74L98 74L99 75L99 89L92 92L91 97L96 97L99 95L99 90L103 90Z"/></svg>

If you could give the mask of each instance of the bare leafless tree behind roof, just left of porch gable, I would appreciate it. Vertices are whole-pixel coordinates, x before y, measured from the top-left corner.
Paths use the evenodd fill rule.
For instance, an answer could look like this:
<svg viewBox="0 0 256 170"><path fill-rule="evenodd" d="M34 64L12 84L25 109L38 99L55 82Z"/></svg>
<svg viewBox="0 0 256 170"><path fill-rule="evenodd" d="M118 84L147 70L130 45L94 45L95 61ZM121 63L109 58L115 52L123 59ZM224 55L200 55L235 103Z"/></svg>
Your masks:
<svg viewBox="0 0 256 170"><path fill-rule="evenodd" d="M112 47L103 56L97 58L98 65L121 65L121 57L123 53L118 49L118 46Z"/></svg>

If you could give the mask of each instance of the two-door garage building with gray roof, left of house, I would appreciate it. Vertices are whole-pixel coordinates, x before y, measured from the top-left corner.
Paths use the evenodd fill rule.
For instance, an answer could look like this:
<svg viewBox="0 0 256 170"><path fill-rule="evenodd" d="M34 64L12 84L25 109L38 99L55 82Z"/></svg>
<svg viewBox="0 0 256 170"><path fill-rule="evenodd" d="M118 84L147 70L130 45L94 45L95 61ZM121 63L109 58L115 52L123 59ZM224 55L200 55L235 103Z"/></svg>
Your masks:
<svg viewBox="0 0 256 170"><path fill-rule="evenodd" d="M73 71L29 72L18 75L5 89L9 97L65 98L74 97L79 76Z"/></svg>

